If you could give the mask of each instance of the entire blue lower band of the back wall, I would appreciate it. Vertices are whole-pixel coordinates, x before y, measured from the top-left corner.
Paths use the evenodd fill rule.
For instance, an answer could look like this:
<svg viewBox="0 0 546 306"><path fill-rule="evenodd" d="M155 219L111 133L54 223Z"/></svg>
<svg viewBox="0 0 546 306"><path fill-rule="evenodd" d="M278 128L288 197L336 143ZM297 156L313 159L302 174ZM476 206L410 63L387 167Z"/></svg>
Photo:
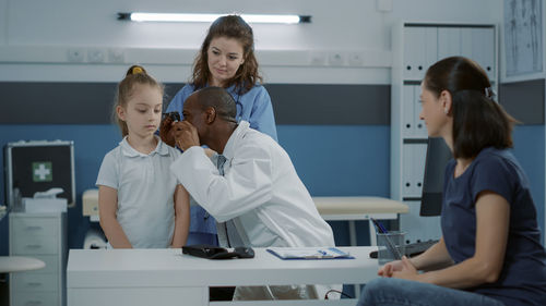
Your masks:
<svg viewBox="0 0 546 306"><path fill-rule="evenodd" d="M280 125L278 139L313 196L389 196L390 128L385 125ZM526 171L544 233L543 125L518 126L514 155ZM117 146L114 125L0 125L0 146L20 139L74 140L76 207L69 210L69 247L82 247L90 227L81 196L95 186L104 155ZM3 157L2 157L3 158ZM3 186L3 175L0 186ZM3 187L0 188L3 200ZM348 245L345 222L332 222L336 243ZM368 243L367 222L357 222L359 244ZM8 220L0 222L0 255L8 254Z"/></svg>

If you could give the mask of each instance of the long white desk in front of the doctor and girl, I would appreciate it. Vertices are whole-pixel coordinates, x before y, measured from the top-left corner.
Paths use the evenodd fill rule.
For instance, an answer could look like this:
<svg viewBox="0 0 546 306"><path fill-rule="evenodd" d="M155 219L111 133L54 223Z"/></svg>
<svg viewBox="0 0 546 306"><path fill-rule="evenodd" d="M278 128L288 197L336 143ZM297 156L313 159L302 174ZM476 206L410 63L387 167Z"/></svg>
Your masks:
<svg viewBox="0 0 546 306"><path fill-rule="evenodd" d="M356 299L209 302L209 286L366 283L377 277L376 247L342 247L355 259L281 260L256 248L256 258L209 260L181 249L71 249L69 306L95 305L355 305Z"/></svg>

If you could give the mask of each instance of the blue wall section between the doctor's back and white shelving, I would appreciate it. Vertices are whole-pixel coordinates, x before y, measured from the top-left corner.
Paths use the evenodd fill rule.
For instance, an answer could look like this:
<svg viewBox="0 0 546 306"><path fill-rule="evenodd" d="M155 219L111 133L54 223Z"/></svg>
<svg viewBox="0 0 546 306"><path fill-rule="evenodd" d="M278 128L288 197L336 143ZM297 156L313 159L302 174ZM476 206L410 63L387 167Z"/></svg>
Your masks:
<svg viewBox="0 0 546 306"><path fill-rule="evenodd" d="M385 125L280 125L278 142L312 196L390 194L390 128ZM337 245L349 245L347 222L330 222ZM368 222L357 221L368 245Z"/></svg>

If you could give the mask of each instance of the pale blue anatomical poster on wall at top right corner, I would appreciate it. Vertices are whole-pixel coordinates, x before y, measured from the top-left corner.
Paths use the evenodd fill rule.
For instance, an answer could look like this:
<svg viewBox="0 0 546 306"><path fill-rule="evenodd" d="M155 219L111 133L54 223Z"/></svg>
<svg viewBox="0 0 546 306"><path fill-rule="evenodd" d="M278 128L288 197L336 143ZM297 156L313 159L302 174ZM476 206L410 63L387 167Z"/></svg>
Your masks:
<svg viewBox="0 0 546 306"><path fill-rule="evenodd" d="M543 72L543 0L505 0L506 77Z"/></svg>

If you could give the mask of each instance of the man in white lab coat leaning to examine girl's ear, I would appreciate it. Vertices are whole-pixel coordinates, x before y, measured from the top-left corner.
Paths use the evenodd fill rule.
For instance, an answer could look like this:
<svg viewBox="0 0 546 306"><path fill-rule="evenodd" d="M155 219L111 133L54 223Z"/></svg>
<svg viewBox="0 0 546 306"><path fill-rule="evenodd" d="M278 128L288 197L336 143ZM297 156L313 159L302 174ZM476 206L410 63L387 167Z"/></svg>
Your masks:
<svg viewBox="0 0 546 306"><path fill-rule="evenodd" d="M173 133L183 154L170 170L218 222L221 245L333 246L286 151L246 121L237 124L233 97L221 87L193 93ZM210 159L201 145L218 155ZM237 287L234 299L324 298L328 287Z"/></svg>

